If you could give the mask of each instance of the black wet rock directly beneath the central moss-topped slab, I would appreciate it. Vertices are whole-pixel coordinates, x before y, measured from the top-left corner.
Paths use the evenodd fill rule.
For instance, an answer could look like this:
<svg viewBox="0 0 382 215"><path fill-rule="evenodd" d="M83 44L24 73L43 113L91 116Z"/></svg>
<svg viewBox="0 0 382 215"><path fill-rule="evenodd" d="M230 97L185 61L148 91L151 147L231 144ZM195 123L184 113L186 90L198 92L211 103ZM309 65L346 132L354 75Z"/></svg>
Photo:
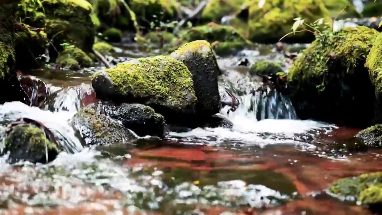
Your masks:
<svg viewBox="0 0 382 215"><path fill-rule="evenodd" d="M165 118L155 113L154 109L143 104L102 104L95 103L88 106L112 119L122 122L122 125L133 130L137 135L164 137Z"/></svg>

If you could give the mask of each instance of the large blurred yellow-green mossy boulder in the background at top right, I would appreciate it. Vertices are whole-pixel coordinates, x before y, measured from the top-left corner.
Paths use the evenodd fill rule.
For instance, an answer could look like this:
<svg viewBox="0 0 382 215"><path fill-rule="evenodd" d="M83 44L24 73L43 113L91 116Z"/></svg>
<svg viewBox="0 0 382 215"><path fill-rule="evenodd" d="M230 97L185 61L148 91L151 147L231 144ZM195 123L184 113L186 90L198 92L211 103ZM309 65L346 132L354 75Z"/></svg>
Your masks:
<svg viewBox="0 0 382 215"><path fill-rule="evenodd" d="M348 0L249 0L248 6L230 23L253 42L274 43L291 32L294 18L301 17L308 24L320 18L330 20L349 4ZM347 11L354 11L354 6ZM309 43L313 40L314 35L304 31L286 36L283 42Z"/></svg>

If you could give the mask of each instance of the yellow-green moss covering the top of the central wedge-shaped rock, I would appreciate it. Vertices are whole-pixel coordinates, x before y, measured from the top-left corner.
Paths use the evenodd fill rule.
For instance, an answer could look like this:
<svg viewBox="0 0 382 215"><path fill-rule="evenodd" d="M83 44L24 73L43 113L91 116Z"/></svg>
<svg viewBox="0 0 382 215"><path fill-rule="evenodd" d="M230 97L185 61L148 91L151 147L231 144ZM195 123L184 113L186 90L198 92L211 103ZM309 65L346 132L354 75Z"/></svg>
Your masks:
<svg viewBox="0 0 382 215"><path fill-rule="evenodd" d="M105 70L114 87L125 96L151 98L157 103L166 103L182 108L189 103L193 80L188 68L169 56L140 58L134 62L120 63L113 69ZM95 73L93 79L100 73Z"/></svg>

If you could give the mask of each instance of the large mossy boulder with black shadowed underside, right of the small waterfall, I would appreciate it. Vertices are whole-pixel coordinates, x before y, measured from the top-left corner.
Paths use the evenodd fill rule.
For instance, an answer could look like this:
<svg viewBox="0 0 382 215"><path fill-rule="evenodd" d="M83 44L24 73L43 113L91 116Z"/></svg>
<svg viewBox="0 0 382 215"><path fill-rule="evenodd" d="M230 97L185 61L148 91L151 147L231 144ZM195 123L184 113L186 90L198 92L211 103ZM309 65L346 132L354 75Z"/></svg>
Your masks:
<svg viewBox="0 0 382 215"><path fill-rule="evenodd" d="M325 31L302 52L287 75L290 98L301 119L371 123L376 98L364 64L378 34L364 26Z"/></svg>

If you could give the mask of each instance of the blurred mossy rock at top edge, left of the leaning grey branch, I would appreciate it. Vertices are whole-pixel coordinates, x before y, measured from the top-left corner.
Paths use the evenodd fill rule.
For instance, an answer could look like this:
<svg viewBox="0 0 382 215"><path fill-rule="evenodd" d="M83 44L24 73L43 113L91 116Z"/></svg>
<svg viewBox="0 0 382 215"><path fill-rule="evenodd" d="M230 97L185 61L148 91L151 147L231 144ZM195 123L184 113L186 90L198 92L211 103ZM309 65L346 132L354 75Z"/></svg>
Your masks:
<svg viewBox="0 0 382 215"><path fill-rule="evenodd" d="M178 16L176 0L126 0L141 26L151 26L160 21L167 23Z"/></svg>

